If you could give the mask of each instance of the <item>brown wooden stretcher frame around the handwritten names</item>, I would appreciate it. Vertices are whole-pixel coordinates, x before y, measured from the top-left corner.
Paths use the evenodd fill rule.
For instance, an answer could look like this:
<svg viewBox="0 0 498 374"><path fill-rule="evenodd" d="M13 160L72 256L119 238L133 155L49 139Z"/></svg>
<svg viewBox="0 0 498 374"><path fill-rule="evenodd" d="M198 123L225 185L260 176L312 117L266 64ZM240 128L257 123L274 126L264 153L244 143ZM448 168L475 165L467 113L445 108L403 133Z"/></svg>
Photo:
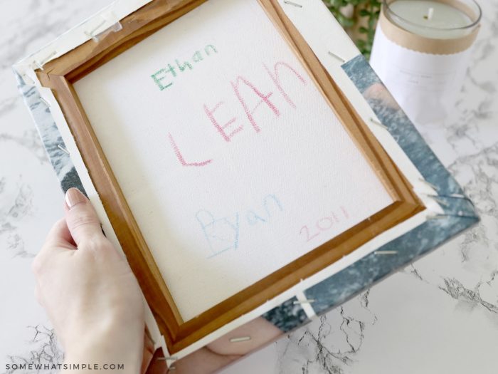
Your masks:
<svg viewBox="0 0 498 374"><path fill-rule="evenodd" d="M65 115L92 183L129 264L137 276L147 303L154 313L170 354L179 352L226 323L249 313L265 301L290 289L301 279L306 279L326 268L381 232L425 209L413 192L413 187L319 63L277 0L258 0L290 48L295 51L302 66L307 69L356 145L369 160L373 170L393 198L393 203L196 318L183 321L92 130L73 83L205 1L209 0L151 1L122 19L121 31L108 33L98 42L87 41L46 63L43 70L36 71L41 84L53 90Z"/></svg>

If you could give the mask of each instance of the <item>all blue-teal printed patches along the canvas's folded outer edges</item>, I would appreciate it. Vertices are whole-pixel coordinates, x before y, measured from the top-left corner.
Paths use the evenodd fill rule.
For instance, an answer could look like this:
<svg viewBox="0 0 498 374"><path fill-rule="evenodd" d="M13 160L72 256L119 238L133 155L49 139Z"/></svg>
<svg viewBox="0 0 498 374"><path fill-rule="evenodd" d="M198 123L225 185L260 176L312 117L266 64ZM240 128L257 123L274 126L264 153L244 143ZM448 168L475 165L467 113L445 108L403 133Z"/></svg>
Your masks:
<svg viewBox="0 0 498 374"><path fill-rule="evenodd" d="M371 88L376 88L373 93L386 91L386 88L364 58L358 56L345 63L343 68L355 83L356 88L364 94L383 125L388 127L398 144L401 145L414 165L418 167L425 180L438 187L438 199L446 202L446 204L442 204L445 215L420 225L420 227L381 248L381 250L396 249L398 251L396 258L393 256L380 257L374 254L365 256L343 271L304 291L307 298L315 300L312 306L317 313L324 313L324 311L359 294L388 274L392 274L396 269L418 259L479 220L470 199L464 196L460 185L435 157L403 111L387 105L381 97L376 98L375 95L371 95ZM83 191L83 185L73 162L71 162L69 155L64 152L65 145L55 125L50 108L41 100L38 88L26 85L17 74L16 78L18 78L18 88L31 112L48 157L58 176L60 187L64 192L70 187L78 187ZM430 235L433 235L432 239L428 239ZM406 242L410 241L420 241L418 243L420 245L407 246ZM296 301L295 297L290 298L280 306L264 313L263 318L283 332L302 326L309 321L309 318Z"/></svg>

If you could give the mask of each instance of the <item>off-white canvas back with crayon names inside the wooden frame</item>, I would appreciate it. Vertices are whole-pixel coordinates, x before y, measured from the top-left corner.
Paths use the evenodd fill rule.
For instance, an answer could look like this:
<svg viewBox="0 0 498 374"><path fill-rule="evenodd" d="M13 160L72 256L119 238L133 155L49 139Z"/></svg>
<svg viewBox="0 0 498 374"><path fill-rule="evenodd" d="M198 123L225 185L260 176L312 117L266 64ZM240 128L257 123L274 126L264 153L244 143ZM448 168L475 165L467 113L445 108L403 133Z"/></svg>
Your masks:
<svg viewBox="0 0 498 374"><path fill-rule="evenodd" d="M257 0L208 0L74 86L185 321L392 202Z"/></svg>

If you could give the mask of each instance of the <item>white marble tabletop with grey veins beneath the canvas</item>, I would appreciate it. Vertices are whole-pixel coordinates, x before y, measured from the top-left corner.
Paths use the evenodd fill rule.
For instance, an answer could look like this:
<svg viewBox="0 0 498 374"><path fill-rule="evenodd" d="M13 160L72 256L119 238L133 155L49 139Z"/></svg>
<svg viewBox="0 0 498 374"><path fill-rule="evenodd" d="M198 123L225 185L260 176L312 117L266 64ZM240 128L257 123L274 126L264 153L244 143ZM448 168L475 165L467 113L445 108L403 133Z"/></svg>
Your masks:
<svg viewBox="0 0 498 374"><path fill-rule="evenodd" d="M60 362L30 264L63 196L10 66L110 2L0 1L0 373L11 360ZM482 222L224 374L497 373L498 0L480 3L455 118L418 128Z"/></svg>

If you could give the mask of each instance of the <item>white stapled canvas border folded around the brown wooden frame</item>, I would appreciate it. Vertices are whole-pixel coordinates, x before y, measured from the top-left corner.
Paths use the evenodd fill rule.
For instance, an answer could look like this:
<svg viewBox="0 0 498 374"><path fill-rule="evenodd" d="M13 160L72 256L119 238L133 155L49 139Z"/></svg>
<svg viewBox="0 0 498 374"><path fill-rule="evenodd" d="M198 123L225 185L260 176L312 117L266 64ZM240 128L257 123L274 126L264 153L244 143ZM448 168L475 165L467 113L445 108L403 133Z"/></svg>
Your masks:
<svg viewBox="0 0 498 374"><path fill-rule="evenodd" d="M83 183L83 187L85 187L90 201L97 210L97 214L100 217L102 227L107 237L119 249L121 248L119 241L117 241L115 232L112 229L107 214L105 214L102 202L100 201L95 187L90 180L88 170L83 163L83 159L81 158L81 155L78 151L78 147L75 145L75 141L72 134L70 133L62 110L60 110L60 106L55 100L55 97L53 96L51 90L41 87L41 83L38 81L38 78L36 77L36 73L34 71L36 68L38 68L36 64L37 61L38 63L40 61L46 63L53 58L62 56L64 53L67 53L80 44L90 40L91 36L88 35L89 30L93 30L93 33L105 31L107 28L114 25L117 20L120 20L133 11L136 11L140 7L149 3L149 1L151 0L115 1L114 3L110 4L110 6L107 6L105 9L102 9L102 11L95 14L95 16L92 16L90 17L90 19L83 21L83 23L81 23L80 25L64 33L52 43L49 43L45 47L41 48L40 51L33 53L33 55L28 56L27 58L23 58L23 60L19 61L19 63L14 66L16 72L21 77L24 77L25 81L32 80L32 83L38 86L42 98L51 104L51 113L53 115L55 124L57 125L60 134L63 137L63 141L65 142L65 146L68 152L70 152L70 158L75 165L78 175ZM359 55L358 49L356 48L356 46L354 46L354 43L351 41L349 36L347 36L346 32L343 30L343 28L341 28L336 19L334 19L332 14L330 14L327 7L322 3L321 0L293 1L295 4L301 4L302 7L287 4L285 0L278 1L280 3L280 6L282 6L282 9L284 9L285 14L289 17L292 23L295 24L307 43L309 43L309 46L311 46L312 50L319 58L319 61L327 69L330 76L334 78L337 85L339 85L339 88L341 88L344 95L346 95L346 98L348 98L351 103L356 103L355 108L361 118L367 125L369 125L369 128L371 129L373 135L375 135L378 141L381 142L381 145L383 145L386 152L388 152L388 155L391 156L396 165L407 177L408 181L414 186L415 192L418 194L418 197L423 201L428 209L406 220L393 229L383 232L382 234L378 235L378 237L359 247L359 249L356 249L356 251L354 251L353 253L344 256L341 260L335 262L331 266L328 266L327 269L319 271L319 273L314 274L308 279L301 281L300 284L297 284L291 289L276 296L272 300L267 301L262 306L256 308L250 313L237 318L235 321L228 323L226 326L219 328L217 331L214 331L200 341L197 341L184 350L181 350L179 353L175 354L175 358L184 357L185 355L188 355L189 353L192 353L195 350L206 346L206 344L216 340L217 338L223 336L234 328L252 321L254 318L261 316L263 313L269 311L270 309L279 306L289 298L302 294L302 291L304 291L305 289L308 289L314 284L317 284L320 281L329 278L329 276L332 276L338 271L345 269L347 266L354 264L354 262L370 254L372 251L375 251L383 244L386 244L396 237L400 237L402 234L409 232L411 229L414 229L418 225L423 224L427 221L427 216L429 214L443 213L443 209L441 209L437 202L426 197L427 194L437 193L429 185L421 182L421 180L423 180L422 175L420 175L420 172L418 172L415 165L413 165L408 156L403 152L401 147L399 147L396 140L391 136L390 133L388 133L386 129L372 123L372 118L374 120L378 120L378 118L376 118L376 115L373 113L373 110L371 110L369 104L366 102L359 90L357 90L354 83L351 82L349 77L341 68L342 63L344 62L340 61L334 56L331 56L331 54L329 53L332 52L335 56L339 56L340 58L344 59L344 61L349 61ZM106 21L102 22L102 20ZM334 36L334 38L332 38L332 36ZM26 83L31 83L28 81L26 81ZM161 337L157 323L154 321L152 312L148 307L147 326L149 327L152 338L156 341L156 346L162 346L165 355L168 355L166 344L164 343L164 338Z"/></svg>

